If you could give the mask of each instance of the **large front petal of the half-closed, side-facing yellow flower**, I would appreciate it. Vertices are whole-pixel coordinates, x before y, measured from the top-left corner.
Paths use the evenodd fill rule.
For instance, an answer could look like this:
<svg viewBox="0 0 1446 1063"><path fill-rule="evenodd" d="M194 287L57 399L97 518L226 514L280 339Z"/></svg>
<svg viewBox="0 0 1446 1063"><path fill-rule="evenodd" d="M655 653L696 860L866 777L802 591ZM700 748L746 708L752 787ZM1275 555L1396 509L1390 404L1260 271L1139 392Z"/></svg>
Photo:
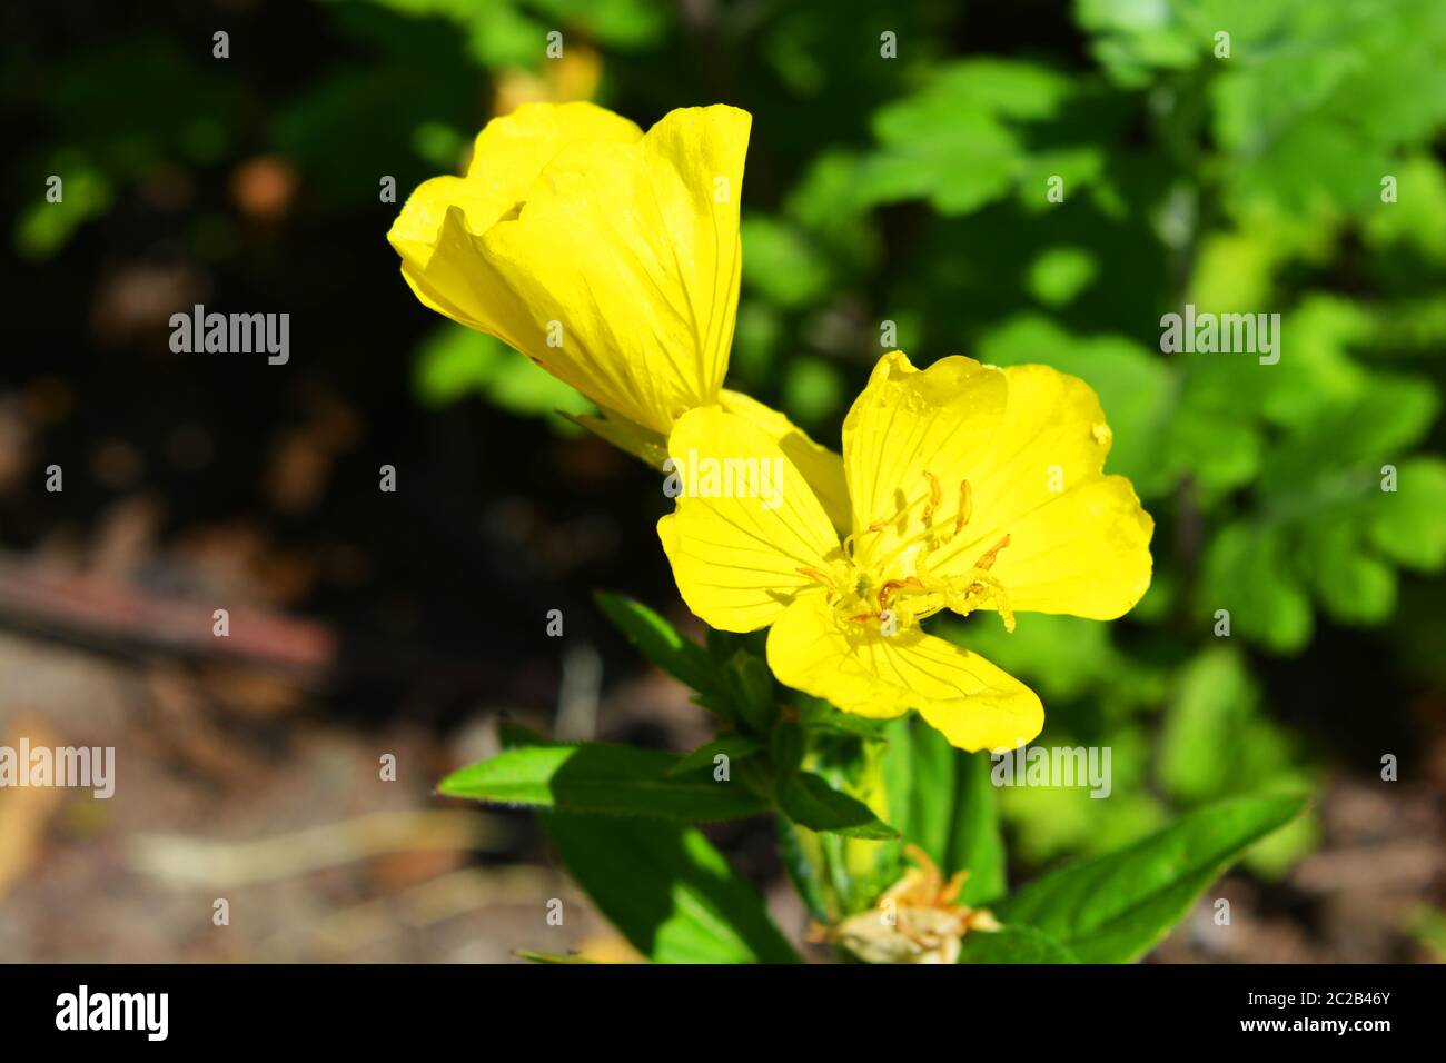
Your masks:
<svg viewBox="0 0 1446 1063"><path fill-rule="evenodd" d="M727 369L749 123L735 107L687 108L641 140L568 142L484 231L450 207L427 276L408 266L408 279L424 302L667 434L716 401Z"/></svg>

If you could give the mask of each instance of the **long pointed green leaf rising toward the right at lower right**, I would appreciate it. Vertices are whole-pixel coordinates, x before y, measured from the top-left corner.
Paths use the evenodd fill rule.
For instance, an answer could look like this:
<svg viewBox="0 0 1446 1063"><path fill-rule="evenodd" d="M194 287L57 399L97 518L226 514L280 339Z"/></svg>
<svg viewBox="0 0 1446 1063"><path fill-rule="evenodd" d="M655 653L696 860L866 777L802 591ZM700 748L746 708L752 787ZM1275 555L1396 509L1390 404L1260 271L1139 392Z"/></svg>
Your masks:
<svg viewBox="0 0 1446 1063"><path fill-rule="evenodd" d="M1139 959L1254 842L1307 798L1244 797L1199 808L1116 853L1067 865L992 905L1006 926L1031 926L1083 963Z"/></svg>

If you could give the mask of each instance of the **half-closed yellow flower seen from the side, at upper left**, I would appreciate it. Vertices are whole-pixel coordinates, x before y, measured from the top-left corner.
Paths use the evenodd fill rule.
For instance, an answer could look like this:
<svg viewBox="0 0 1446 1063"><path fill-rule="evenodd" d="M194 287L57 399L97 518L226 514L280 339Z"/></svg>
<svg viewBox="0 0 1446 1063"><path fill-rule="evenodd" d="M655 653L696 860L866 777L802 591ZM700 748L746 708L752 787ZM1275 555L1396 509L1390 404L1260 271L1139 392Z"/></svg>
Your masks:
<svg viewBox="0 0 1446 1063"><path fill-rule="evenodd" d="M777 440L843 522L839 457L723 388L750 124L688 107L643 133L590 103L523 104L477 135L466 176L412 192L388 239L416 298L577 388L603 438L659 464L683 414L722 406Z"/></svg>

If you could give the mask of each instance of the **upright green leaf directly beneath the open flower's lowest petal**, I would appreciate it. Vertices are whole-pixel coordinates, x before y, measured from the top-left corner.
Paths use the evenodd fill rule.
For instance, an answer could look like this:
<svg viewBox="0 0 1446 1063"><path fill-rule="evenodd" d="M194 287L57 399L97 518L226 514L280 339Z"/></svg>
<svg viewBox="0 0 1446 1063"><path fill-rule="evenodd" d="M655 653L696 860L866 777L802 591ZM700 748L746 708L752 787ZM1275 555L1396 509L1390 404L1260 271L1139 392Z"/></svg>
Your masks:
<svg viewBox="0 0 1446 1063"><path fill-rule="evenodd" d="M962 900L983 904L1005 891L989 755L966 754L921 719L889 727L885 751L889 819L946 876L969 871Z"/></svg>

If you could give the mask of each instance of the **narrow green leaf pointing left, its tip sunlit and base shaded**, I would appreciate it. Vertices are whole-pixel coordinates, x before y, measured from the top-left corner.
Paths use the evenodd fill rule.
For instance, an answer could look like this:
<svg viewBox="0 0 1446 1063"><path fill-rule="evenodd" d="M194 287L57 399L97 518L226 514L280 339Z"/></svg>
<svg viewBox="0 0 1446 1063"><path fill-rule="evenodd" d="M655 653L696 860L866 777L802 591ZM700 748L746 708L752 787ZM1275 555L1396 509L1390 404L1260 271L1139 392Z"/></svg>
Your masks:
<svg viewBox="0 0 1446 1063"><path fill-rule="evenodd" d="M532 808L703 823L766 806L736 782L669 774L672 754L632 746L525 745L444 778L438 793Z"/></svg>

